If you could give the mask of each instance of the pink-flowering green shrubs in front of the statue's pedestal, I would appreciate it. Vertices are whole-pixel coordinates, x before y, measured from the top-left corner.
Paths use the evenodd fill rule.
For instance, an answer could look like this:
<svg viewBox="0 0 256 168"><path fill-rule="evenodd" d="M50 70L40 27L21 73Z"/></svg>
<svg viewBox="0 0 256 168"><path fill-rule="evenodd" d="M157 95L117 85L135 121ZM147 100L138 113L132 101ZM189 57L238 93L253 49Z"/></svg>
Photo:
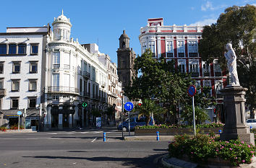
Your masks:
<svg viewBox="0 0 256 168"><path fill-rule="evenodd" d="M249 164L255 154L255 146L243 141L216 141L219 137L197 134L197 136L175 136L168 146L170 156L182 159L186 154L192 162L206 163L208 158L228 160L231 165Z"/></svg>

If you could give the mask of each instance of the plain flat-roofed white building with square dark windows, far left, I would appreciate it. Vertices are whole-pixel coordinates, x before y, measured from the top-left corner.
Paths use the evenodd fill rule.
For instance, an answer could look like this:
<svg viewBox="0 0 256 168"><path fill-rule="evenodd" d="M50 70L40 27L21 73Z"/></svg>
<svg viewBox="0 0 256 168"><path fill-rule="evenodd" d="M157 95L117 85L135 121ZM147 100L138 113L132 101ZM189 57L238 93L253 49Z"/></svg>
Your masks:
<svg viewBox="0 0 256 168"><path fill-rule="evenodd" d="M0 126L36 126L43 120L46 43L50 27L7 27L0 33ZM43 100L42 100L43 101Z"/></svg>

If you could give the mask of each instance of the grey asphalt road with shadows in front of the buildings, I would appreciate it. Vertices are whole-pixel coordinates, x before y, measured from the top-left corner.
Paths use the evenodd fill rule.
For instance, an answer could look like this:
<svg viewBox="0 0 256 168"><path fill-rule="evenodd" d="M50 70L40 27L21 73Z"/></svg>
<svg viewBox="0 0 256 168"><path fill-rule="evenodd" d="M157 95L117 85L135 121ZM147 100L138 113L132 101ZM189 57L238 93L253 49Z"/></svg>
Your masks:
<svg viewBox="0 0 256 168"><path fill-rule="evenodd" d="M154 159L167 147L168 141L123 141L116 130L4 133L0 167L160 167Z"/></svg>

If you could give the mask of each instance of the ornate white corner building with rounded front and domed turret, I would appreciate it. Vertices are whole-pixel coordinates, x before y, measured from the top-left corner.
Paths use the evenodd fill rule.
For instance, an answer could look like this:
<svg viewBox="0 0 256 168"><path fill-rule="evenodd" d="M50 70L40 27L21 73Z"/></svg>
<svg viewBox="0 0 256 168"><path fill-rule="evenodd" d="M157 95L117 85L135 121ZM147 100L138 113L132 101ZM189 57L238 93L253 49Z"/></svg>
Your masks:
<svg viewBox="0 0 256 168"><path fill-rule="evenodd" d="M103 114L108 107L108 64L98 60L98 45L80 45L70 38L72 24L63 12L52 25L46 60L46 128L95 125L92 110Z"/></svg>

